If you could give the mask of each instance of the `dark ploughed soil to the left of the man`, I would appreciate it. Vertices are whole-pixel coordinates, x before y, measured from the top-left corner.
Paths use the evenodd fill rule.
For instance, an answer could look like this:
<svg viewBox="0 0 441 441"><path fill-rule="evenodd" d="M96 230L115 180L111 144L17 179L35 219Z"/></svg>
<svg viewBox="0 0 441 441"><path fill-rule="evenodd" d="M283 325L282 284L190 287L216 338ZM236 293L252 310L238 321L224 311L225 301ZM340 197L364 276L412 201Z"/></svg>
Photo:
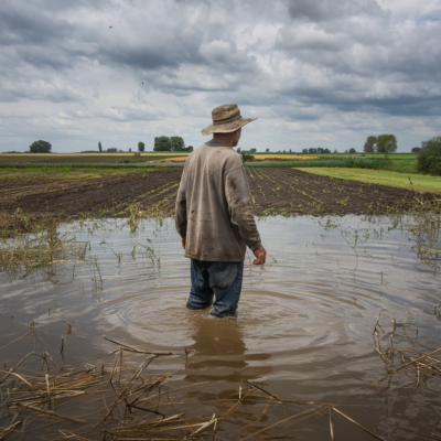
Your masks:
<svg viewBox="0 0 441 441"><path fill-rule="evenodd" d="M174 207L182 170L110 174L92 179L14 179L2 182L0 211L21 208L31 216L129 216L130 206Z"/></svg>

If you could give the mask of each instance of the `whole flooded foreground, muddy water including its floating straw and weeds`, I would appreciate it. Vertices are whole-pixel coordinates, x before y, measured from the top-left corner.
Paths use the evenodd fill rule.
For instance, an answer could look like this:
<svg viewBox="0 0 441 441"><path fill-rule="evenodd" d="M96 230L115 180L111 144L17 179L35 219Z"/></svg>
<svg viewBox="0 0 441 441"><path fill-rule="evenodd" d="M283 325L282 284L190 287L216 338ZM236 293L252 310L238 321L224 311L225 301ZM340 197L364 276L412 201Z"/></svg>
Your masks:
<svg viewBox="0 0 441 441"><path fill-rule="evenodd" d="M0 386L7 439L441 439L441 353L406 366L441 346L439 218L267 217L258 227L269 258L259 268L247 257L235 319L185 309L190 262L171 218L68 224L61 234L76 247L37 263L28 245L24 267L1 260L0 381L31 352L53 359L14 370L46 413L11 408L26 387L19 377ZM147 367L143 352L173 355ZM137 407L125 385L140 364L142 384L158 384ZM45 365L53 395L51 375L104 380L51 408ZM163 418L174 426L123 431Z"/></svg>

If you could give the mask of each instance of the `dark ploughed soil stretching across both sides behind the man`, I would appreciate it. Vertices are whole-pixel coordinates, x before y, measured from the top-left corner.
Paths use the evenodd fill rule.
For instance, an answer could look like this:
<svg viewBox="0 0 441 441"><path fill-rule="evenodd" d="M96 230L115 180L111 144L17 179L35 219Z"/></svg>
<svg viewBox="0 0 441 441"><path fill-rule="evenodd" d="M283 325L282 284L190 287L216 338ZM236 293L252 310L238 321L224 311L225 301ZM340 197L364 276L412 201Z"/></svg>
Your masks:
<svg viewBox="0 0 441 441"><path fill-rule="evenodd" d="M293 169L249 168L247 171L257 215L383 214L392 208L406 211L416 204L416 196L420 201L434 197ZM126 217L133 209L146 215L170 216L173 215L181 174L182 169L161 169L80 180L35 175L3 180L0 213L12 215L20 208L33 219L89 215ZM20 216L17 222L23 224ZM13 228L13 225L9 227Z"/></svg>

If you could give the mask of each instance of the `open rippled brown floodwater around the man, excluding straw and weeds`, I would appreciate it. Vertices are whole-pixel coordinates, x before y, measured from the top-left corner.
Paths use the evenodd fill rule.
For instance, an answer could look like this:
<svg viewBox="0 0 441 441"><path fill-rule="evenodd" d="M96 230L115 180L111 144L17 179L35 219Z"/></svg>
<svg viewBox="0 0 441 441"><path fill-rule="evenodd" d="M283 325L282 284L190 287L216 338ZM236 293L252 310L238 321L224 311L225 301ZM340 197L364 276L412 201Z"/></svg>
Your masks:
<svg viewBox="0 0 441 441"><path fill-rule="evenodd" d="M94 363L112 349L105 334L130 346L186 349L186 359L155 369L176 372L170 381L191 386L193 400L224 397L246 378L286 399L335 404L385 439L441 437L440 429L432 432L441 417L439 376L416 389L416 381L383 392L368 386L387 375L373 340L380 310L385 347L394 318L407 324L397 327L396 345L440 347L440 278L437 262L418 252L415 220L272 217L258 227L270 257L260 268L247 256L237 318L219 320L185 309L190 261L172 219L140 222L135 233L121 219L64 226L90 243L87 262L36 268L24 278L0 273L0 347L31 323L41 330L39 342L23 338L1 348L1 365L10 368L40 344L60 358L61 335L65 363ZM240 428L261 411L244 408L246 421L219 424L219 439L250 435ZM270 409L257 427L283 419L286 411ZM330 439L327 421L316 416L268 433ZM344 418L334 418L334 430L338 440L372 439Z"/></svg>

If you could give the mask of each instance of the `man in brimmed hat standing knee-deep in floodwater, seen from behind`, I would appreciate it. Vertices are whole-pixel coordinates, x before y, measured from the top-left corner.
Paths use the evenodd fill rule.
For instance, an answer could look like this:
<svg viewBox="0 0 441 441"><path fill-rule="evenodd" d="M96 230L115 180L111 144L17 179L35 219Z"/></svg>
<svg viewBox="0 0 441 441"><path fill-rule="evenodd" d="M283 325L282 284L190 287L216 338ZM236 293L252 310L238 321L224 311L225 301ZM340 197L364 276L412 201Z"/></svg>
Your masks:
<svg viewBox="0 0 441 441"><path fill-rule="evenodd" d="M233 150L241 127L255 118L243 118L235 104L216 107L212 117L213 123L201 133L213 133L213 139L185 162L175 223L185 257L192 259L186 308L213 304L212 315L233 316L240 298L246 247L256 256L255 265L265 263L267 255L252 215L244 160Z"/></svg>

